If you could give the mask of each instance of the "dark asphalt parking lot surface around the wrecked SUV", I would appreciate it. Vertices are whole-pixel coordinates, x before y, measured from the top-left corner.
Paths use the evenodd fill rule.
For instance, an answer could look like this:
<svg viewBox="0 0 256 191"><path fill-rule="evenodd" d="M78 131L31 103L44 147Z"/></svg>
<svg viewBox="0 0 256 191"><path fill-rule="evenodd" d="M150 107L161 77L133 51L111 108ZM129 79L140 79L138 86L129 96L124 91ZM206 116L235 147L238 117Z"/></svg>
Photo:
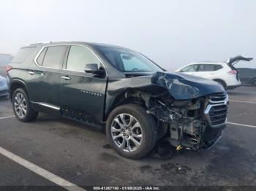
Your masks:
<svg viewBox="0 0 256 191"><path fill-rule="evenodd" d="M18 122L5 98L0 100L0 147L79 186L256 186L256 88L228 93L229 124L209 151L129 160L110 148L100 130L78 122L48 114ZM1 154L0 164L0 185L56 185Z"/></svg>

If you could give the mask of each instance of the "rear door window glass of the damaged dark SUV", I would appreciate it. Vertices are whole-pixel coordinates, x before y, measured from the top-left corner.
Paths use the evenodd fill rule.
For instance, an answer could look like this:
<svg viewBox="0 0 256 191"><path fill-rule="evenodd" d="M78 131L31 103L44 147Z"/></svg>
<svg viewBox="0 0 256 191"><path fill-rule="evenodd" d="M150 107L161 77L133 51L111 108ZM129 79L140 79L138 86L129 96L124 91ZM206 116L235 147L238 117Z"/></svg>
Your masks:
<svg viewBox="0 0 256 191"><path fill-rule="evenodd" d="M59 69L59 64L61 63L66 46L53 46L48 47L45 53L45 58L43 58L42 66ZM42 58L41 58L42 59Z"/></svg>

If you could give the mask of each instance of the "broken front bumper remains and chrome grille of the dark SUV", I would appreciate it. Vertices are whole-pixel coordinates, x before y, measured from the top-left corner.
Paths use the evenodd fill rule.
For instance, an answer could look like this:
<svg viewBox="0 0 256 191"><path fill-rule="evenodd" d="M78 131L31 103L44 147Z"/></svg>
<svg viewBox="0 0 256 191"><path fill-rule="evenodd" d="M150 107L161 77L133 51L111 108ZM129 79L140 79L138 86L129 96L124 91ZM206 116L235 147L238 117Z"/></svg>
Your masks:
<svg viewBox="0 0 256 191"><path fill-rule="evenodd" d="M208 96L203 119L170 123L170 142L177 149L211 149L222 138L227 123L227 93ZM175 126L179 128L175 128Z"/></svg>

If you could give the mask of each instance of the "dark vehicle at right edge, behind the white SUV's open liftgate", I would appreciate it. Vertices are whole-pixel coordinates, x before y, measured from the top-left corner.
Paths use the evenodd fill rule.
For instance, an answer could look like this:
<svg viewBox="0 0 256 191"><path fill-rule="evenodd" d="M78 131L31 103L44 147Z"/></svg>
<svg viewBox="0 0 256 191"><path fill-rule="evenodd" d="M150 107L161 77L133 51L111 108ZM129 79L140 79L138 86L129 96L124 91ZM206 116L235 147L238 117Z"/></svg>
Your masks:
<svg viewBox="0 0 256 191"><path fill-rule="evenodd" d="M241 68L237 70L242 84L256 86L256 69Z"/></svg>

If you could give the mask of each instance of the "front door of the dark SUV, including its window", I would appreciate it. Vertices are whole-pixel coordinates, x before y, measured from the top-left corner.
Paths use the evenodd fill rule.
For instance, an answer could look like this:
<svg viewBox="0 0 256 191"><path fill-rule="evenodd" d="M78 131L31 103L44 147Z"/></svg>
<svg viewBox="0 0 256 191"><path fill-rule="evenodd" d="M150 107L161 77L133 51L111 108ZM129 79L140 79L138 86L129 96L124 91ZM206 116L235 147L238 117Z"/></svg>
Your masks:
<svg viewBox="0 0 256 191"><path fill-rule="evenodd" d="M107 77L105 74L86 73L84 69L88 63L97 63L99 69L104 69L89 47L69 47L60 73L61 113L74 120L100 125L104 114Z"/></svg>

